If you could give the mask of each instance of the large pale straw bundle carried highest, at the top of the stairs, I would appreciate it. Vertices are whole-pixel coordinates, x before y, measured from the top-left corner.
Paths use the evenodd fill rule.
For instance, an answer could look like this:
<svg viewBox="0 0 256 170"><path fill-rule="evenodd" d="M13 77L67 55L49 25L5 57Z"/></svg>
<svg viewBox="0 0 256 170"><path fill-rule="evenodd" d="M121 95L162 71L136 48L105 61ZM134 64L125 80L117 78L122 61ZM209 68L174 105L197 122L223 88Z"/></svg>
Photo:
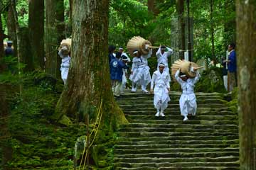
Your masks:
<svg viewBox="0 0 256 170"><path fill-rule="evenodd" d="M127 50L130 55L133 55L132 52L134 50L138 50L141 54L147 55L149 54L149 49L146 49L146 45L151 46L151 42L142 37L135 36L127 42Z"/></svg>

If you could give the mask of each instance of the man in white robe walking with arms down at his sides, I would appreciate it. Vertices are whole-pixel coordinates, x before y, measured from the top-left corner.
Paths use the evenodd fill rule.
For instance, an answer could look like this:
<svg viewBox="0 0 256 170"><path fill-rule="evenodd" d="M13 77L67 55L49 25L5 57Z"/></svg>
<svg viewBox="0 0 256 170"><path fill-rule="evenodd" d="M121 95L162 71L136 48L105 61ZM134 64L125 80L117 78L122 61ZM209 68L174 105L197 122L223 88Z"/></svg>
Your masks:
<svg viewBox="0 0 256 170"><path fill-rule="evenodd" d="M154 87L154 107L157 110L156 116L164 115L164 110L168 106L170 101L169 91L170 91L170 75L164 72L165 65L163 63L159 64L159 69L154 72L151 80L151 94L153 94ZM160 111L161 110L161 111Z"/></svg>

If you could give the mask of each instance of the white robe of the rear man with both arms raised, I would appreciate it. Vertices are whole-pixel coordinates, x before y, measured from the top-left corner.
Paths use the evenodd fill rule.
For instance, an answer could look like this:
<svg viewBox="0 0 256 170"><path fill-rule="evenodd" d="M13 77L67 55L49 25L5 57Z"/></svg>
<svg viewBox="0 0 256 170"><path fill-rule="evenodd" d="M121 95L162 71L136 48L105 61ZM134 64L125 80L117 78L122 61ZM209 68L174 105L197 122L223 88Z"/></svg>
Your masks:
<svg viewBox="0 0 256 170"><path fill-rule="evenodd" d="M163 63L165 65L164 72L167 72L170 74L169 66L168 66L168 57L171 56L171 54L173 53L173 50L171 50L171 48L169 48L169 47L166 47L166 49L168 51L164 52L164 54L161 54L161 48L159 48L159 50L157 50L157 52L156 52L157 68L156 69L159 69L159 64Z"/></svg>

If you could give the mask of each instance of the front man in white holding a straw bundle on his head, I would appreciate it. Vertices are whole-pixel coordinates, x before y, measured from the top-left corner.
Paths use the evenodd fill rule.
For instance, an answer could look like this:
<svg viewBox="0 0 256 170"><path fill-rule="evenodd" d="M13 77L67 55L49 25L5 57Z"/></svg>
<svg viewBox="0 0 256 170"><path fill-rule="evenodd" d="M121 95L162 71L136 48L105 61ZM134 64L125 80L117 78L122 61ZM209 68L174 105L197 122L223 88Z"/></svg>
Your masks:
<svg viewBox="0 0 256 170"><path fill-rule="evenodd" d="M196 82L200 79L199 72L191 67L191 72L196 72L196 77L188 78L186 74L181 73L180 69L175 74L175 79L181 84L182 94L179 100L181 115L184 116L183 121L188 120L188 115L196 115L196 95L194 94L194 87Z"/></svg>

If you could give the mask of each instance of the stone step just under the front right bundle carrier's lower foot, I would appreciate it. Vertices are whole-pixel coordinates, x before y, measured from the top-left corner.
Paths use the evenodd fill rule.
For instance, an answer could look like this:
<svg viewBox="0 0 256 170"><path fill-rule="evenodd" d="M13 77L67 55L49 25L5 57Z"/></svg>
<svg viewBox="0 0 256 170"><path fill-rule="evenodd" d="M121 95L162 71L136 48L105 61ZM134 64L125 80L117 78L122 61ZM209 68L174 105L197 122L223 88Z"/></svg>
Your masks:
<svg viewBox="0 0 256 170"><path fill-rule="evenodd" d="M153 124L191 124L191 125L238 125L238 120L188 120L183 122L183 118L180 120L166 120L165 118L159 118L157 120L130 120L130 123L153 123Z"/></svg>

